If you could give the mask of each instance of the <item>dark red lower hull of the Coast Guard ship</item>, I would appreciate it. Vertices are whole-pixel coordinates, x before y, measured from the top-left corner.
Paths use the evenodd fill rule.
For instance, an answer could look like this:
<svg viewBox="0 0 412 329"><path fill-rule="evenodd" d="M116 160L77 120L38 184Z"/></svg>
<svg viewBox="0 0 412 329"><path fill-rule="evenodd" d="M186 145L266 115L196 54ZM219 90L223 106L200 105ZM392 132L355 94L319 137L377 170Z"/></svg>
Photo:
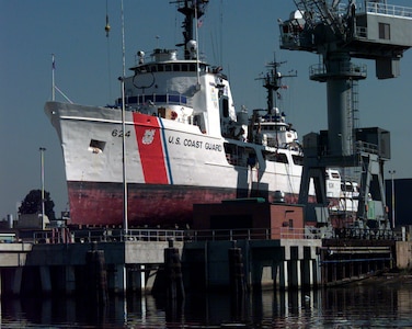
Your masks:
<svg viewBox="0 0 412 329"><path fill-rule="evenodd" d="M193 222L193 204L220 203L222 200L262 196L272 202L273 193L233 189L128 184L128 228L181 228ZM123 184L68 182L70 218L73 225L123 225ZM297 203L297 195L286 195L286 202Z"/></svg>

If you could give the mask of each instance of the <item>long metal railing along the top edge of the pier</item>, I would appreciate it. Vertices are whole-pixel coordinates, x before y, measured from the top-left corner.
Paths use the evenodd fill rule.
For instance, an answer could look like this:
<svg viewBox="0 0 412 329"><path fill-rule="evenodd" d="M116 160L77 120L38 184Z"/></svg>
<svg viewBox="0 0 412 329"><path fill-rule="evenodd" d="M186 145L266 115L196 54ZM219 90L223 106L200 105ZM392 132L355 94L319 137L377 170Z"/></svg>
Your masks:
<svg viewBox="0 0 412 329"><path fill-rule="evenodd" d="M90 243L123 241L216 241L216 240L278 240L278 239L394 239L390 230L359 228L322 229L316 227L293 228L237 228L237 229L118 229L69 230L56 228L36 231L34 243Z"/></svg>

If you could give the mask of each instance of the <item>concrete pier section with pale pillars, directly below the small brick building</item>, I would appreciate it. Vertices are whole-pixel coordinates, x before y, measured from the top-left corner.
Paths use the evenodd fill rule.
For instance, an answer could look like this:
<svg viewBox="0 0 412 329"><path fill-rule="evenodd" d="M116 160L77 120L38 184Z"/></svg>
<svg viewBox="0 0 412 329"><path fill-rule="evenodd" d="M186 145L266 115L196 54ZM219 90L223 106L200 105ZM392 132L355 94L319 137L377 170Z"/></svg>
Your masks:
<svg viewBox="0 0 412 329"><path fill-rule="evenodd" d="M187 286L197 290L228 288L229 250L233 241L186 243L182 261ZM245 284L250 288L298 288L320 285L321 240L237 240L241 249Z"/></svg>

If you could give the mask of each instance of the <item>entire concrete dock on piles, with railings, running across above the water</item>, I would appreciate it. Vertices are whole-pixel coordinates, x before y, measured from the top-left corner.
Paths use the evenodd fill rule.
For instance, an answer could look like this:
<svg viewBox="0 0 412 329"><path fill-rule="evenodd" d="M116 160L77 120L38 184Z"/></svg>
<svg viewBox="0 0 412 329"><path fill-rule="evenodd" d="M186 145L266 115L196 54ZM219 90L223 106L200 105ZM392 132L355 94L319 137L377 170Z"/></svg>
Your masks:
<svg viewBox="0 0 412 329"><path fill-rule="evenodd" d="M82 230L66 241L44 235L30 243L0 243L2 294L82 294L101 280L114 294L165 293L167 254L173 256L171 269L179 268L170 277L180 275L184 290L238 292L344 283L394 268L397 258L394 240L321 239L290 228L263 236L262 229L139 230L128 236ZM167 252L171 247L175 251ZM103 256L98 266L88 258L95 250ZM95 268L105 272L91 277Z"/></svg>

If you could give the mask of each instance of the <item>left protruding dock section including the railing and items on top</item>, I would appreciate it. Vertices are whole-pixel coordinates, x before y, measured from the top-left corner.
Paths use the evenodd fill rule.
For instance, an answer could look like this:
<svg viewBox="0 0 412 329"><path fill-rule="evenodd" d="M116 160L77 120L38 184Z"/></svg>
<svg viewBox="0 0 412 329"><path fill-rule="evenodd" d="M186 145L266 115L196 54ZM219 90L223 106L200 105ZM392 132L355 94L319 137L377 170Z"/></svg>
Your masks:
<svg viewBox="0 0 412 329"><path fill-rule="evenodd" d="M150 291L164 263L168 239L183 249L180 234L139 230L124 236L94 229L73 232L72 239L66 239L59 232L42 231L31 242L0 243L2 294L81 294L98 277L90 276L94 268L89 256L95 251L103 256L110 292Z"/></svg>

